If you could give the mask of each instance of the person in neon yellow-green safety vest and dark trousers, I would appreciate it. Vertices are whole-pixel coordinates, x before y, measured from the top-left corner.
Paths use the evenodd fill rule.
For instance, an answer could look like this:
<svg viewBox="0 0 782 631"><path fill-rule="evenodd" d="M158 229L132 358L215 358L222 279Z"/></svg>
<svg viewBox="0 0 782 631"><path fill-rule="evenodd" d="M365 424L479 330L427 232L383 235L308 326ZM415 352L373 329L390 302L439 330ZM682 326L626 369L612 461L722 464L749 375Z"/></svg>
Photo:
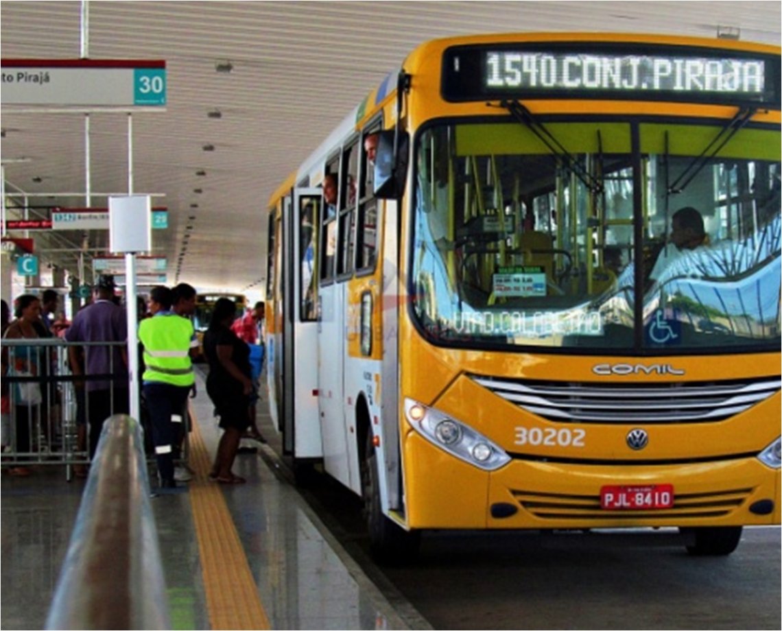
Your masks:
<svg viewBox="0 0 782 631"><path fill-rule="evenodd" d="M138 339L144 347L144 396L152 422L160 486L174 488L174 425L182 422L182 410L195 383L190 342L193 325L171 310L174 292L153 287L149 292L152 317L138 324Z"/></svg>

